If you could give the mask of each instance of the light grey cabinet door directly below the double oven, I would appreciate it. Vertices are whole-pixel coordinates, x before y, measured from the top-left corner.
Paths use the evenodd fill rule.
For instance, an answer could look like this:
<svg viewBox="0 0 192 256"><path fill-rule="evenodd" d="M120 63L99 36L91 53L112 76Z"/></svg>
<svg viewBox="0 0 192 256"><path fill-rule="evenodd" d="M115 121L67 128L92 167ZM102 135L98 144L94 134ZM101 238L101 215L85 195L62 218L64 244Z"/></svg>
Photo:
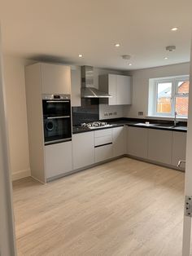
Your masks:
<svg viewBox="0 0 192 256"><path fill-rule="evenodd" d="M72 170L72 142L45 146L46 179Z"/></svg>

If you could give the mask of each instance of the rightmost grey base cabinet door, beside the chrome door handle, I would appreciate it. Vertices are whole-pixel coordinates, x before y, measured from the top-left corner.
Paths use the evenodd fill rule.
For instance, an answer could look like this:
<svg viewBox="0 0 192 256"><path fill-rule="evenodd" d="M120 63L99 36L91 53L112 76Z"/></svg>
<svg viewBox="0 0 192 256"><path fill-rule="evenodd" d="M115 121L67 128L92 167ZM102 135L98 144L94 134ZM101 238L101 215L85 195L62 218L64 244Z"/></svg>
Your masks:
<svg viewBox="0 0 192 256"><path fill-rule="evenodd" d="M185 160L186 132L172 132L172 166L177 166L178 161Z"/></svg>

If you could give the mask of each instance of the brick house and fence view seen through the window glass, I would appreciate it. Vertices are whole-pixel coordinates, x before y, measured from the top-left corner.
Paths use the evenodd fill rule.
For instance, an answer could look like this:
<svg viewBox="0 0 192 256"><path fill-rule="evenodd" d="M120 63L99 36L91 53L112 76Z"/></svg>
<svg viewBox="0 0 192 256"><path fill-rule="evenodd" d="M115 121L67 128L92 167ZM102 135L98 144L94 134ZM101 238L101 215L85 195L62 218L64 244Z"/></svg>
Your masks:
<svg viewBox="0 0 192 256"><path fill-rule="evenodd" d="M172 96L174 99L174 111L178 116L188 114L189 81L179 81L172 95L172 82L158 82L157 84L157 113L172 113Z"/></svg>

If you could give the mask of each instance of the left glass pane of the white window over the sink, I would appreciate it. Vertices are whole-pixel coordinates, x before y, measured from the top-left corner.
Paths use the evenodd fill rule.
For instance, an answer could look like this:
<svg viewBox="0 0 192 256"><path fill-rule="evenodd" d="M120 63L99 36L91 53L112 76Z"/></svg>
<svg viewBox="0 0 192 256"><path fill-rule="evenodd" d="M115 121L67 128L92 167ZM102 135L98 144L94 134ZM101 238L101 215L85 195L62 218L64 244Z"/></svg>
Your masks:
<svg viewBox="0 0 192 256"><path fill-rule="evenodd" d="M171 113L172 82L159 82L157 86L157 113Z"/></svg>

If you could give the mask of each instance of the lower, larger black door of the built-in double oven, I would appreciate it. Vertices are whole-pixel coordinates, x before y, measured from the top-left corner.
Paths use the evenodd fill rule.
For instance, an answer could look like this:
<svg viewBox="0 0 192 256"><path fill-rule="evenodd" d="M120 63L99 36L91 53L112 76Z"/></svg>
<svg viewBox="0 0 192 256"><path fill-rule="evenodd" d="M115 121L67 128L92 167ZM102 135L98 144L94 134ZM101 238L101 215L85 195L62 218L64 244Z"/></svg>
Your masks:
<svg viewBox="0 0 192 256"><path fill-rule="evenodd" d="M71 117L44 118L45 145L72 140Z"/></svg>

